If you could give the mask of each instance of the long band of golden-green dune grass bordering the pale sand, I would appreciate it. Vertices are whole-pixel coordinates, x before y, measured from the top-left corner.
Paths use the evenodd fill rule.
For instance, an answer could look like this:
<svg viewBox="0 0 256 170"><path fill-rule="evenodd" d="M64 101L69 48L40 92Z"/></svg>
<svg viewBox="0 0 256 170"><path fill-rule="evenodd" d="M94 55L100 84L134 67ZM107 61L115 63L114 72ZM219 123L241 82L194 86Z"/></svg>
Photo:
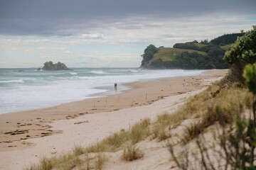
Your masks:
<svg viewBox="0 0 256 170"><path fill-rule="evenodd" d="M194 119L195 123L188 125L183 132L183 139L188 142L200 135L208 126L233 123L240 118L240 113L252 106L253 96L237 84L220 88L218 84L209 86L206 91L188 98L174 113L159 115L154 123L149 118L141 120L129 128L120 130L104 140L89 147L75 146L70 154L60 154L52 158L42 157L39 164L29 166L26 170L50 169L102 169L105 162L104 152L123 150L123 159L132 161L142 157L135 147L137 142L152 136L158 141L170 136L168 131L176 128L183 120Z"/></svg>

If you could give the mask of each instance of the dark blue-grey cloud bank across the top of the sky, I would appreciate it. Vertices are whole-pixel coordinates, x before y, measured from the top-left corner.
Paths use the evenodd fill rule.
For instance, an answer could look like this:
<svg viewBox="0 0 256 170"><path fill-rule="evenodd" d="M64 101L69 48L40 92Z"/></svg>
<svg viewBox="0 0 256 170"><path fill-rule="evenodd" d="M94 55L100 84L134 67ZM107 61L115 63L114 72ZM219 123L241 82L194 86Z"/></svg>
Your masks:
<svg viewBox="0 0 256 170"><path fill-rule="evenodd" d="M143 24L130 20L128 23L132 24L129 25L122 21L126 18L200 18L206 13L255 15L255 6L255 0L0 1L0 35L70 36L85 33L87 38L102 38L102 33L93 29L105 23L113 23L124 30L161 26L157 20Z"/></svg>

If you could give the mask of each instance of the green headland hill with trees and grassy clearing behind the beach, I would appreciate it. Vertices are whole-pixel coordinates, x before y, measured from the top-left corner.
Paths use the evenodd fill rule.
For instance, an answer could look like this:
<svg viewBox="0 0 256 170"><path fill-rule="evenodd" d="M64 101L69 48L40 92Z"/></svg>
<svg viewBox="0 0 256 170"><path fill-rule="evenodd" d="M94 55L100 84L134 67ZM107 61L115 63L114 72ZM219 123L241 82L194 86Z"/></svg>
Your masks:
<svg viewBox="0 0 256 170"><path fill-rule="evenodd" d="M242 33L221 35L213 40L200 43L176 43L174 47L149 45L142 55L141 68L144 69L226 69L223 60L225 52ZM226 44L228 43L228 44Z"/></svg>

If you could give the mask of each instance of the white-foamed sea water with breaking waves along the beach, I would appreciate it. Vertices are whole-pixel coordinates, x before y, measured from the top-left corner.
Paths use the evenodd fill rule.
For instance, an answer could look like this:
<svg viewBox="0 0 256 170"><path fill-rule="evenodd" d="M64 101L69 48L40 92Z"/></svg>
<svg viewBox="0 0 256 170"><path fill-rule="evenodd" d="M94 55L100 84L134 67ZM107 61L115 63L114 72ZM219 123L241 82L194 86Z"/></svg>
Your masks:
<svg viewBox="0 0 256 170"><path fill-rule="evenodd" d="M117 93L122 84L201 74L203 70L144 70L134 68L80 68L69 71L0 69L0 113L56 106ZM124 90L124 88L122 88ZM119 89L120 91L120 89Z"/></svg>

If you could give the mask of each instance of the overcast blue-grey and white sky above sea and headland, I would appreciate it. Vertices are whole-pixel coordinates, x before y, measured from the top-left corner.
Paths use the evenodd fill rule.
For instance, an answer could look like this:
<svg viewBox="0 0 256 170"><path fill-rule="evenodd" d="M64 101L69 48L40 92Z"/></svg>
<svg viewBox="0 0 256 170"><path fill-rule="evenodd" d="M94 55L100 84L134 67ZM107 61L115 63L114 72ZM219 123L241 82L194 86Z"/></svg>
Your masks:
<svg viewBox="0 0 256 170"><path fill-rule="evenodd" d="M0 68L139 67L144 49L256 25L255 0L0 0Z"/></svg>

